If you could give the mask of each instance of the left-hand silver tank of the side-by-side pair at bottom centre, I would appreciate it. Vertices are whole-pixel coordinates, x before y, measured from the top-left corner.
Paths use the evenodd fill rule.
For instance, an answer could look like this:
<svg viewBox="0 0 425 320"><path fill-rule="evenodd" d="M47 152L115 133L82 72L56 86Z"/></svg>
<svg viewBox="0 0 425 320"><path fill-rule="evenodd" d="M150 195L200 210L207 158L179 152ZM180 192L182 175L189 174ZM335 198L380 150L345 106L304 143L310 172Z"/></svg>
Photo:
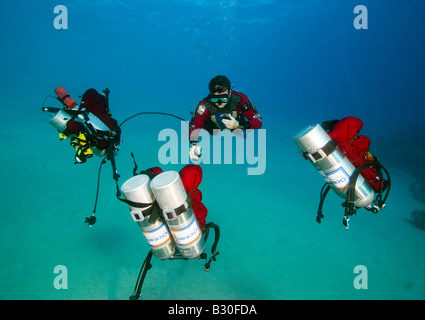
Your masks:
<svg viewBox="0 0 425 320"><path fill-rule="evenodd" d="M142 230L152 253L159 259L169 259L175 253L175 244L162 214L154 205L155 197L149 187L149 181L149 177L145 174L134 176L123 183L121 191L127 200L152 203L147 208L129 205L130 214Z"/></svg>

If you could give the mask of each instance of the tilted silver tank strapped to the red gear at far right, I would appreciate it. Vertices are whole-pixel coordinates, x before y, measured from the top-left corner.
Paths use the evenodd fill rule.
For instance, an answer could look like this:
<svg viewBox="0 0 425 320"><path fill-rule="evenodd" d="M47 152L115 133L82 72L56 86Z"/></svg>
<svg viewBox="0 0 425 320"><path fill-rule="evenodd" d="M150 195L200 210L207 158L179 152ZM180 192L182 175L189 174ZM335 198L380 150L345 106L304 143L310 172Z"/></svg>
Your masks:
<svg viewBox="0 0 425 320"><path fill-rule="evenodd" d="M331 140L331 137L319 124L309 126L294 136L294 142L308 156L310 162L330 184L335 193L345 198L351 175L356 168L338 147L330 154L326 154L323 148ZM359 175L354 197L355 206L369 206L374 200L374 195L367 181L362 175Z"/></svg>

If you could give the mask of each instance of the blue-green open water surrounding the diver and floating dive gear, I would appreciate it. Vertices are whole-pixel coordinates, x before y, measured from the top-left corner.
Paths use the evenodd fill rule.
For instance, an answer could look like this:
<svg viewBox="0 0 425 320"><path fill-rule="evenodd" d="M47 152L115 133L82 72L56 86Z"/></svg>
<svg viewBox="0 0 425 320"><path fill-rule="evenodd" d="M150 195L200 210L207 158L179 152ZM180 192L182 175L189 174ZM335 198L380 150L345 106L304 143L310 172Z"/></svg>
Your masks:
<svg viewBox="0 0 425 320"><path fill-rule="evenodd" d="M56 30L56 5L68 29ZM356 5L368 29L356 30ZM113 116L159 111L190 118L208 81L227 75L247 94L267 130L267 169L203 165L208 220L220 225L217 262L153 261L145 299L424 299L425 3L420 0L13 1L0 4L1 299L127 299L148 248L128 208L115 199L109 163L73 164L43 99L64 86L79 101L110 88ZM53 99L51 106L58 106ZM360 210L341 224L328 196L315 222L323 179L292 137L323 120L356 116L371 150L392 174L388 208ZM123 127L120 183L161 165L158 133L174 118L140 116ZM211 240L210 240L211 241ZM55 266L68 270L57 290ZM368 289L353 272L368 268Z"/></svg>

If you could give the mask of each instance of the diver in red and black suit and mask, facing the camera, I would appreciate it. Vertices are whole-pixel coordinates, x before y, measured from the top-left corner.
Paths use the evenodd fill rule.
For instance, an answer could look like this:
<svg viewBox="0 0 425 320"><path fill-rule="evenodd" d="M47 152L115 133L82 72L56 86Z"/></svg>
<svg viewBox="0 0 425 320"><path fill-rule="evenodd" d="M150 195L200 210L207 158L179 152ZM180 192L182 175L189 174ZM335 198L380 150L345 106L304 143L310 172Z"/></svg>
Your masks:
<svg viewBox="0 0 425 320"><path fill-rule="evenodd" d="M261 116L249 98L232 90L226 76L215 76L210 80L208 88L210 94L198 103L189 123L189 154L193 161L199 160L201 156L199 130L207 130L213 135L214 130L260 129L262 126Z"/></svg>

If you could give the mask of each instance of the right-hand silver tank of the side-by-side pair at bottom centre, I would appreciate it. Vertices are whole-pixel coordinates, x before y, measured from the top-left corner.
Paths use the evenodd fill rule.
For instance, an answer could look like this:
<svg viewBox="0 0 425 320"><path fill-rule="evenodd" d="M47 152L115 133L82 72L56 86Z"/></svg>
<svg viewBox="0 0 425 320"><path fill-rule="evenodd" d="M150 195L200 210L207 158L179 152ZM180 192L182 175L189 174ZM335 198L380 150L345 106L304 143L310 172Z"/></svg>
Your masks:
<svg viewBox="0 0 425 320"><path fill-rule="evenodd" d="M152 179L152 192L162 209L177 250L185 258L197 258L205 241L177 171L166 171Z"/></svg>

